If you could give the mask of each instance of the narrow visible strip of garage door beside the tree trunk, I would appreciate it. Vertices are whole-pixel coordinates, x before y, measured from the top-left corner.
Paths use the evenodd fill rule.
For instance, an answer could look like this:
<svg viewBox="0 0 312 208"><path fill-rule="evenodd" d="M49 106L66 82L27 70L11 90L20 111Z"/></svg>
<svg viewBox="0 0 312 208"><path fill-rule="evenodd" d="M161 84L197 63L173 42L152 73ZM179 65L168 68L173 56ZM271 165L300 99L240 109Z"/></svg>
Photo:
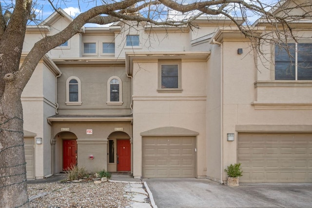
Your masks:
<svg viewBox="0 0 312 208"><path fill-rule="evenodd" d="M35 179L35 148L34 138L24 138L26 177Z"/></svg>

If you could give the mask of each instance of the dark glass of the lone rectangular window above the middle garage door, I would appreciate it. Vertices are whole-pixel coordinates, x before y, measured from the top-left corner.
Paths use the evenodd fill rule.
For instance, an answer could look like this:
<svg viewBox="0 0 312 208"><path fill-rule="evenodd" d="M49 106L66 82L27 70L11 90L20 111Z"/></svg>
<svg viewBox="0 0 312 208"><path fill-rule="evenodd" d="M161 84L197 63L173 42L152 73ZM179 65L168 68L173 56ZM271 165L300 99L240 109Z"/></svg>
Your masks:
<svg viewBox="0 0 312 208"><path fill-rule="evenodd" d="M177 65L161 65L161 88L178 88Z"/></svg>

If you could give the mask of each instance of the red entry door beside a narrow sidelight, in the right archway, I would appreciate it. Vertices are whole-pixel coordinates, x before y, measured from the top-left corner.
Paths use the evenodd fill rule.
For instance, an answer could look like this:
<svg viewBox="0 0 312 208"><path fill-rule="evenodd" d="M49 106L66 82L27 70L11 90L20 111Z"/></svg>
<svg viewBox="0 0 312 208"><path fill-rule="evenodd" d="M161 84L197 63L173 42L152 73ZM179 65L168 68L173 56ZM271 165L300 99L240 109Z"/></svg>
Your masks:
<svg viewBox="0 0 312 208"><path fill-rule="evenodd" d="M130 140L117 140L117 171L131 170Z"/></svg>

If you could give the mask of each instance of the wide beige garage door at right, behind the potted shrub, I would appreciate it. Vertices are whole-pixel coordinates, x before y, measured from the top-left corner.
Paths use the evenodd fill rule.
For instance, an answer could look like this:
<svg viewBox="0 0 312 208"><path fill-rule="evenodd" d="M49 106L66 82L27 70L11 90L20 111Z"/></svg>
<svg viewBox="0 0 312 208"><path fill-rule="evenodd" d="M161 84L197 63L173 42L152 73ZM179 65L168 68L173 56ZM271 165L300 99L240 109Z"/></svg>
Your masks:
<svg viewBox="0 0 312 208"><path fill-rule="evenodd" d="M239 133L242 183L311 183L312 133Z"/></svg>

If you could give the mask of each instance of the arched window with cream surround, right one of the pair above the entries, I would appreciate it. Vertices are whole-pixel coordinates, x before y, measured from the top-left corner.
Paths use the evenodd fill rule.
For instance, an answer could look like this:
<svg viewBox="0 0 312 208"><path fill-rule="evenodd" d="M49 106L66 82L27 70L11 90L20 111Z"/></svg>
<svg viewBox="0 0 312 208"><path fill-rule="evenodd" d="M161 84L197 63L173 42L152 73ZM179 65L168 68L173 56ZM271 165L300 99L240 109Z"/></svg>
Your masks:
<svg viewBox="0 0 312 208"><path fill-rule="evenodd" d="M122 104L122 82L117 76L107 82L107 104Z"/></svg>

